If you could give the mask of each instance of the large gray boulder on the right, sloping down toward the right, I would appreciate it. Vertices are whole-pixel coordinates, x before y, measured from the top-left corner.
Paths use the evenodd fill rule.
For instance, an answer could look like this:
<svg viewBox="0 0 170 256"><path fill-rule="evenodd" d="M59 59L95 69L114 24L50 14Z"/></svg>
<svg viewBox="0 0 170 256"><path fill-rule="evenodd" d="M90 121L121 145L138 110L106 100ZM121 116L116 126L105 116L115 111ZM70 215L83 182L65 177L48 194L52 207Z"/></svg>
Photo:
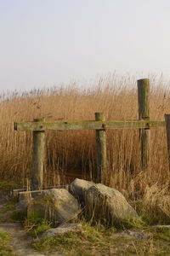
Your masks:
<svg viewBox="0 0 170 256"><path fill-rule="evenodd" d="M121 225L124 220L139 218L119 191L100 183L86 191L86 207L88 218L107 225Z"/></svg>

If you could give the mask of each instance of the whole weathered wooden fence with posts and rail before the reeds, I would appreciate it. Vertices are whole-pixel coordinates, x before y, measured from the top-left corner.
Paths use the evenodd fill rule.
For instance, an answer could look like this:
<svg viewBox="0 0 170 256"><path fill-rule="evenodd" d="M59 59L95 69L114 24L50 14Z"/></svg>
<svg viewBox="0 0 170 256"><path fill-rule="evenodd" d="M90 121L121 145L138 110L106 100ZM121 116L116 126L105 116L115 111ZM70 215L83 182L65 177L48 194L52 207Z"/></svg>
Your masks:
<svg viewBox="0 0 170 256"><path fill-rule="evenodd" d="M104 183L107 168L106 139L108 129L139 129L139 147L141 167L146 170L150 166L150 128L167 127L167 152L170 162L170 114L165 114L165 121L150 120L150 80L138 80L139 119L123 121L106 121L104 113L95 113L95 120L88 121L46 121L34 119L30 122L15 122L15 131L33 132L33 156L31 170L31 189L42 189L43 155L45 131L47 130L95 130L96 131L96 182Z"/></svg>

